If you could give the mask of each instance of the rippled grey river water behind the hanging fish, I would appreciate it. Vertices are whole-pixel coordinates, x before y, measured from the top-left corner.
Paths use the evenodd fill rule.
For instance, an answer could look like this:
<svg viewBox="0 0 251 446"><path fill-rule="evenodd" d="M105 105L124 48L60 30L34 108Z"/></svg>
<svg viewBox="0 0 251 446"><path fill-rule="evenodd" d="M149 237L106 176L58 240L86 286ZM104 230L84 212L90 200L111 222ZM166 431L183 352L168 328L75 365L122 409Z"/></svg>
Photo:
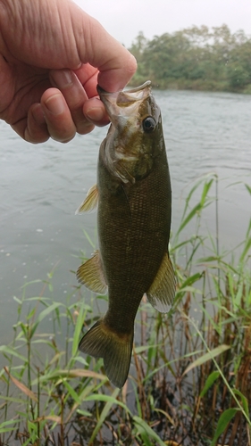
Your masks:
<svg viewBox="0 0 251 446"><path fill-rule="evenodd" d="M234 247L244 239L251 214L251 197L243 185L251 185L251 96L154 94L163 113L172 176L172 231L193 181L215 172L220 178L220 243ZM95 238L96 214L74 212L96 182L97 153L106 131L96 128L67 145L52 140L30 145L0 121L1 343L13 339L13 296L21 297L22 285L46 279L53 268L55 300L65 301L77 285L71 270L79 266L80 250L93 251L83 228ZM215 233L212 206L204 224Z"/></svg>

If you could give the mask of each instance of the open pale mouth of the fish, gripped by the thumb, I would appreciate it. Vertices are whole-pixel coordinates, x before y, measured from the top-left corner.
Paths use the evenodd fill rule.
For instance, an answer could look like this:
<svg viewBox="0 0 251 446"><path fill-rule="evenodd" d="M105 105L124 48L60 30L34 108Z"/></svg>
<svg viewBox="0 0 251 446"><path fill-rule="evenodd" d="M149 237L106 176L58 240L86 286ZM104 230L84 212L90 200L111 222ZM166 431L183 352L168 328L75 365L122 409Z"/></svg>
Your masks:
<svg viewBox="0 0 251 446"><path fill-rule="evenodd" d="M99 85L96 86L96 90L111 122L117 125L120 117L128 118L133 115L138 110L138 103L143 102L150 95L151 81L146 80L139 87L113 93L106 92Z"/></svg>

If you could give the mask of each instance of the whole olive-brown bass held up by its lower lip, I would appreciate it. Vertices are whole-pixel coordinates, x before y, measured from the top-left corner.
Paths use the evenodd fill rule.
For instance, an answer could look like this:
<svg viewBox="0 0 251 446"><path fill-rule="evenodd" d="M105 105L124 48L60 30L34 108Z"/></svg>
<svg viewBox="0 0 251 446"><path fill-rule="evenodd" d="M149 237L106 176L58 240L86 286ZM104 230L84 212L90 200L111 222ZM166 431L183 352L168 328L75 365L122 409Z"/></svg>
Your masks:
<svg viewBox="0 0 251 446"><path fill-rule="evenodd" d="M104 359L105 374L121 388L129 375L138 306L146 293L168 312L176 279L168 245L172 189L161 111L151 81L130 90L97 92L111 120L100 145L97 182L77 213L97 206L99 250L79 266L79 283L106 294L108 310L81 338L79 350Z"/></svg>

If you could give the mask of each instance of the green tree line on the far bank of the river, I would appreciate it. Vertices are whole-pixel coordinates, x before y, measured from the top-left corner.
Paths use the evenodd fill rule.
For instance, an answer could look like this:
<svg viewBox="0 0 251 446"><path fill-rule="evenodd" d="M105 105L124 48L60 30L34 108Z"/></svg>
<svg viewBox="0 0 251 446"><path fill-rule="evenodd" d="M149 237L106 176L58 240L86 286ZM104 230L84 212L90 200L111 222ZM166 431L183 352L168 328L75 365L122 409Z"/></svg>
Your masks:
<svg viewBox="0 0 251 446"><path fill-rule="evenodd" d="M149 78L160 88L251 94L251 37L243 30L193 26L152 40L139 32L129 49L138 61L132 86Z"/></svg>

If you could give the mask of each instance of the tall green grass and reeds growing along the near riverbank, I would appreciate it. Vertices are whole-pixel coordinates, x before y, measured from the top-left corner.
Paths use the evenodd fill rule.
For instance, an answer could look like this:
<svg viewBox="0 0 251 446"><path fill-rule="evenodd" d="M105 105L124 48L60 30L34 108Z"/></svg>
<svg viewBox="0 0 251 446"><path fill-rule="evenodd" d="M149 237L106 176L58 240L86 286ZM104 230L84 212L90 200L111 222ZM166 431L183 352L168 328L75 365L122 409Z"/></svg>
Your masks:
<svg viewBox="0 0 251 446"><path fill-rule="evenodd" d="M54 299L54 271L38 281L37 296L24 285L13 342L0 347L0 445L251 445L251 219L238 250L221 253L217 191L218 178L206 176L188 194L172 235L172 312L143 299L121 391L102 360L79 354L82 326L98 317L84 287L63 303ZM214 237L201 234L209 205Z"/></svg>

